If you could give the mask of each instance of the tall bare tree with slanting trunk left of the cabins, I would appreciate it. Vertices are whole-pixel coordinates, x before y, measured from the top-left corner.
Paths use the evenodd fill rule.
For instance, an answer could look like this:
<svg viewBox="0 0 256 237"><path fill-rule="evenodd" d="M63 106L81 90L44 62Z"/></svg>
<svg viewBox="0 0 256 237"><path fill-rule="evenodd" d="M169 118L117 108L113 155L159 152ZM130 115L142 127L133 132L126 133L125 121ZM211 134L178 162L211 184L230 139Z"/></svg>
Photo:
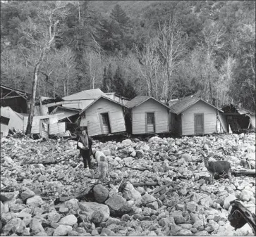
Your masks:
<svg viewBox="0 0 256 237"><path fill-rule="evenodd" d="M32 101L26 134L31 133L39 72L41 72L41 66L45 56L47 56L47 53L49 53L49 50L54 45L59 20L67 14L65 6L61 1L53 1L50 5L41 5L37 11L37 20L33 21L31 18L28 18L26 22L20 23L18 27L20 34L23 35L19 41L20 53L34 68Z"/></svg>

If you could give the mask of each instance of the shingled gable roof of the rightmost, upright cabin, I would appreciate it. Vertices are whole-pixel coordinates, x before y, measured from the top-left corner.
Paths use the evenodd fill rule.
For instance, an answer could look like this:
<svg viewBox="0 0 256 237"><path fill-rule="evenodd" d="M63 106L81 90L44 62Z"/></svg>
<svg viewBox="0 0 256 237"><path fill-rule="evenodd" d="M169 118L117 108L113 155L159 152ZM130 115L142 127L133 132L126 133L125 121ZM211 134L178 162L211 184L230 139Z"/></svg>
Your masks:
<svg viewBox="0 0 256 237"><path fill-rule="evenodd" d="M183 98L181 101L175 103L174 105L172 105L170 107L171 108L171 113L176 113L176 115L179 115L183 111L190 108L192 105L195 105L195 103L197 103L198 101L203 101L203 102L207 103L208 105L216 108L217 110L223 112L222 110L215 107L214 105L208 103L207 101L204 101L202 98L199 98L199 97L196 97L196 96L193 96L193 97L188 96L188 97Z"/></svg>

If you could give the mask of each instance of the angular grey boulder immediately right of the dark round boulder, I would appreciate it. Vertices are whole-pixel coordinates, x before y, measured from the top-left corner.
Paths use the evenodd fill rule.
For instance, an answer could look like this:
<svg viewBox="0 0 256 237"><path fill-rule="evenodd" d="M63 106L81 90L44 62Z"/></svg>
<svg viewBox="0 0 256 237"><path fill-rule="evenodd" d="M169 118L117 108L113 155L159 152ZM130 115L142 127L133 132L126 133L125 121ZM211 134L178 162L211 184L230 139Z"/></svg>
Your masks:
<svg viewBox="0 0 256 237"><path fill-rule="evenodd" d="M122 216L132 210L126 199L120 195L111 196L105 203L109 206L110 213L114 217Z"/></svg>

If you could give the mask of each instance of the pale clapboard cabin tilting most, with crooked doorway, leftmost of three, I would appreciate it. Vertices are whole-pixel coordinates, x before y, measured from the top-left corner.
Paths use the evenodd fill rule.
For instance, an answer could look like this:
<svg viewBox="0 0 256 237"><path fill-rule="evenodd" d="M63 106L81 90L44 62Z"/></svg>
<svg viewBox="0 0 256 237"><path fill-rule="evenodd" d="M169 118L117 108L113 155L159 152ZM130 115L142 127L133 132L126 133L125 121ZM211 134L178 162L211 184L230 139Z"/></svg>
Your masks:
<svg viewBox="0 0 256 237"><path fill-rule="evenodd" d="M80 127L87 127L89 136L99 136L126 132L123 108L126 105L111 100L106 96L99 96L87 105L79 114Z"/></svg>

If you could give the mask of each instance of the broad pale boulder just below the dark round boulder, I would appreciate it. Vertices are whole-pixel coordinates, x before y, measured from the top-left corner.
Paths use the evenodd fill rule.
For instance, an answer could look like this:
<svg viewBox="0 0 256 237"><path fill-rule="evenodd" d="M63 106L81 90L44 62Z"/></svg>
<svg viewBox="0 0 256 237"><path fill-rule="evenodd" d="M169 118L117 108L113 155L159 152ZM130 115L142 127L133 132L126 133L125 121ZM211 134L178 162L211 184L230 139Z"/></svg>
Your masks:
<svg viewBox="0 0 256 237"><path fill-rule="evenodd" d="M92 213L100 210L104 214L102 222L106 222L109 219L110 211L107 205L95 202L79 202L78 203L80 210L83 210L87 214L89 220L92 219Z"/></svg>

